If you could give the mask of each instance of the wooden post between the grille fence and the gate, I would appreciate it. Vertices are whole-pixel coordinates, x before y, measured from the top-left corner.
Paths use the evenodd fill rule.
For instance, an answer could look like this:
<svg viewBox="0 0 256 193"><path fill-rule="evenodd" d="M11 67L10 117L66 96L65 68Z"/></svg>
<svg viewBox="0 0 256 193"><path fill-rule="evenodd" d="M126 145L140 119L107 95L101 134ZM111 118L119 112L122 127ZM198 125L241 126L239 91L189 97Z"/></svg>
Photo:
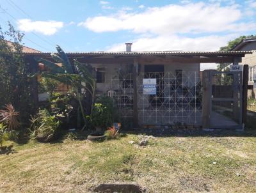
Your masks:
<svg viewBox="0 0 256 193"><path fill-rule="evenodd" d="M212 93L212 78L211 70L203 71L203 89L202 89L202 127L210 127L211 116L211 93Z"/></svg>

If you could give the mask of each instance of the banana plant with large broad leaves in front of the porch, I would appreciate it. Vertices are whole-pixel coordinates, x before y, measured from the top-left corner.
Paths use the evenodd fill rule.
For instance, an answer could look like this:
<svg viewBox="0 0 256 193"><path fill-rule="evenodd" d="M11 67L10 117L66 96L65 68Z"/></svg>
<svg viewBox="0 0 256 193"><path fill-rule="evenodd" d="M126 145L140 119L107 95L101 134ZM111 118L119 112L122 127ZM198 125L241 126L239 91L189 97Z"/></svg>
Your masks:
<svg viewBox="0 0 256 193"><path fill-rule="evenodd" d="M52 53L51 57L54 61L56 61L56 63L61 63L61 65L57 65L56 63L53 63L47 59L35 57L35 60L38 63L43 63L50 69L49 72L42 72L41 76L66 84L73 89L72 94L79 102L79 107L83 116L85 127L86 115L82 104L83 96L81 94L81 89L83 88L84 90L88 91L88 93L92 95L92 98L94 98L95 79L93 78L90 70L88 70L87 66L82 65L76 59L74 59L74 65L76 66L78 72L76 73L70 64L69 59L67 58L67 54L65 54L59 45L56 46L56 50L58 51L58 54ZM83 84L83 82L85 84Z"/></svg>

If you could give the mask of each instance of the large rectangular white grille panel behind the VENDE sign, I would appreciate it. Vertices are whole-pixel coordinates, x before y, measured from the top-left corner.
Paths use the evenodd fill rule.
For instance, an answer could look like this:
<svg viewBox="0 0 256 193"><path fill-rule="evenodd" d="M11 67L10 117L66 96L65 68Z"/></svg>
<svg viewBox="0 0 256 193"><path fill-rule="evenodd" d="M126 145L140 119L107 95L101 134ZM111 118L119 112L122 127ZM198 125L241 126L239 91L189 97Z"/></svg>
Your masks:
<svg viewBox="0 0 256 193"><path fill-rule="evenodd" d="M156 79L155 95L143 93L143 79ZM143 72L137 82L141 125L202 124L199 72Z"/></svg>

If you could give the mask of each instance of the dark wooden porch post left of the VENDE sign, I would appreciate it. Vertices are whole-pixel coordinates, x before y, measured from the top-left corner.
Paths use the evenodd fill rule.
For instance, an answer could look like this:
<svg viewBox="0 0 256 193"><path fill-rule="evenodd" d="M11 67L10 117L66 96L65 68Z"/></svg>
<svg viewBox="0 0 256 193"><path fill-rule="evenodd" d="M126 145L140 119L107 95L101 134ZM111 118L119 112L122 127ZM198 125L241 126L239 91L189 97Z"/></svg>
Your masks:
<svg viewBox="0 0 256 193"><path fill-rule="evenodd" d="M134 58L133 70L132 70L132 82L133 82L133 127L135 128L139 127L137 77L138 77L138 58Z"/></svg>

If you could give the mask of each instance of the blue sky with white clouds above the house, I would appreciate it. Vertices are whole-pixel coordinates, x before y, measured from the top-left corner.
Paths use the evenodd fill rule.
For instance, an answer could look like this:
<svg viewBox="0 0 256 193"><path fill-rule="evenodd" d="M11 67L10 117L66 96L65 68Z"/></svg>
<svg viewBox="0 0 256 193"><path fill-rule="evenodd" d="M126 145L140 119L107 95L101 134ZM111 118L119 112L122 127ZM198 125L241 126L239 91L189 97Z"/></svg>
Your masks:
<svg viewBox="0 0 256 193"><path fill-rule="evenodd" d="M214 51L256 34L256 0L0 0L0 24L25 33L24 45L54 52Z"/></svg>

